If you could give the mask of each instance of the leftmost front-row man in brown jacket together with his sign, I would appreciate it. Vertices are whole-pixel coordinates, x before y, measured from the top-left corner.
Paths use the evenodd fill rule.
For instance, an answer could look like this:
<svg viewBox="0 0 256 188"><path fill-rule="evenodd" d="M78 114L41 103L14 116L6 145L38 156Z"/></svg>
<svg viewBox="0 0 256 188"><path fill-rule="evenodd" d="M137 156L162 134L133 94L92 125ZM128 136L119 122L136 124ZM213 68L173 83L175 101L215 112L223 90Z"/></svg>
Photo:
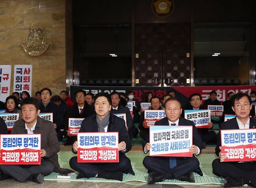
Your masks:
<svg viewBox="0 0 256 188"><path fill-rule="evenodd" d="M53 171L61 172L61 173L72 172L69 169L60 168L60 165L58 163L58 154L57 154L60 151L60 144L58 143L56 131L54 131L52 122L44 120L38 116L40 113L38 100L35 98L23 99L21 103L21 111L22 111L22 119L17 120L15 122L11 134L29 134L29 135L41 134L41 140L40 140L41 142L38 142L39 144L37 144L41 148L40 156L39 156L41 157L39 158L41 162L39 165L32 165L29 162L27 162L27 160L25 160L26 161L25 165L19 165L20 163L18 163L16 160L19 161L19 158L21 157L18 157L15 160L17 162L17 165L2 164L0 165L0 171L1 171L0 180L14 178L20 182L30 180L37 183L42 183L44 181L44 176L51 174L51 172ZM1 137L2 136L3 135L1 135ZM23 140L25 140L25 138L21 139L21 146L23 145L25 146L25 144L22 144L23 142L25 143L25 141ZM35 142L33 141L30 144L26 143L25 150L32 147L33 143ZM14 141L11 141L11 144L16 145L17 143ZM2 143L1 143L1 149L2 149ZM30 149L33 149L33 148L30 148ZM0 154L1 163L4 161L2 157L4 157L4 155L1 156ZM33 156L29 156L28 158L30 157L33 157ZM5 156L5 158L7 157Z"/></svg>

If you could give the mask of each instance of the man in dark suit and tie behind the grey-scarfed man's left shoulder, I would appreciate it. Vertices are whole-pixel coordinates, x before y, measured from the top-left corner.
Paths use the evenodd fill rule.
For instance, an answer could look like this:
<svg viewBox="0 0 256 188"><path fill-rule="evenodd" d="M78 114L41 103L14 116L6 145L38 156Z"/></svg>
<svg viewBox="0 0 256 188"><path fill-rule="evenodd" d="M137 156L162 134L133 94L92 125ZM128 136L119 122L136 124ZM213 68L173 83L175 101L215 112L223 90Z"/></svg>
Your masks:
<svg viewBox="0 0 256 188"><path fill-rule="evenodd" d="M94 114L94 105L86 103L86 92L78 90L75 92L75 104L71 106L65 114L65 139L64 145L73 144L77 140L76 136L69 136L68 132L68 118L87 118Z"/></svg>

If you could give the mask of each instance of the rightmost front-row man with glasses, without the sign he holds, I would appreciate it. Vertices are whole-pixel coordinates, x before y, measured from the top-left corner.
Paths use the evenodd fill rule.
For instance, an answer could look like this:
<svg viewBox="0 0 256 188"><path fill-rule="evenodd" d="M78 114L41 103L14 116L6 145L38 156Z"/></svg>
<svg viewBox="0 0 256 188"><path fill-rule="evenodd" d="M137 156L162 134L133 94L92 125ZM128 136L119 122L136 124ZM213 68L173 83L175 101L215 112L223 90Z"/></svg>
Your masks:
<svg viewBox="0 0 256 188"><path fill-rule="evenodd" d="M236 117L220 125L226 129L255 129L256 120L249 117L252 101L246 93L237 93L231 98L232 109ZM217 134L215 153L219 157L212 162L212 171L217 176L225 178L224 187L243 186L256 187L256 162L223 162L227 157L221 152L221 135Z"/></svg>

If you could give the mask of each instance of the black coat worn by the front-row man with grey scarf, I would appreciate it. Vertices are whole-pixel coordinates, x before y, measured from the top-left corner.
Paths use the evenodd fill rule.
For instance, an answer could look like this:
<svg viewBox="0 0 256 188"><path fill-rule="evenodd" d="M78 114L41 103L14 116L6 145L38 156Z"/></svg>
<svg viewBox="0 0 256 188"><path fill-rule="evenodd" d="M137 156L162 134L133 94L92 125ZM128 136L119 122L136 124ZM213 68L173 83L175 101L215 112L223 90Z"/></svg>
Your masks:
<svg viewBox="0 0 256 188"><path fill-rule="evenodd" d="M98 124L96 122L96 114L93 114L93 115L89 116L88 118L85 118L82 121L81 129L79 130L79 132L98 132ZM119 137L118 143L120 143L122 141L124 141L126 143L125 153L127 153L128 151L131 150L132 143L130 141L130 137L126 130L125 122L123 119L117 117L116 115L112 115L110 113L109 125L107 127L107 132L118 132L118 137ZM72 150L72 151L73 151L73 153L77 153L74 150ZM119 151L119 155L120 154L123 155L124 152Z"/></svg>

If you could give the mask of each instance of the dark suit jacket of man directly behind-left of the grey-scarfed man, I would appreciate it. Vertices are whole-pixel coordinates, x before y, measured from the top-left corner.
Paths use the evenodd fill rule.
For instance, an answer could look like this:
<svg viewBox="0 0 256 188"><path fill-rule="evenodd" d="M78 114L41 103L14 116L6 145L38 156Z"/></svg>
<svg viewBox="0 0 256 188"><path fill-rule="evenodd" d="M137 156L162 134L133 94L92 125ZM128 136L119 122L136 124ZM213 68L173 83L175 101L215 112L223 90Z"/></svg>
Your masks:
<svg viewBox="0 0 256 188"><path fill-rule="evenodd" d="M68 118L87 118L90 115L93 115L95 113L94 106L90 106L86 102L84 103L84 108L82 110L82 114L80 114L80 111L78 109L77 104L74 104L71 106L65 114L65 129L68 130Z"/></svg>

